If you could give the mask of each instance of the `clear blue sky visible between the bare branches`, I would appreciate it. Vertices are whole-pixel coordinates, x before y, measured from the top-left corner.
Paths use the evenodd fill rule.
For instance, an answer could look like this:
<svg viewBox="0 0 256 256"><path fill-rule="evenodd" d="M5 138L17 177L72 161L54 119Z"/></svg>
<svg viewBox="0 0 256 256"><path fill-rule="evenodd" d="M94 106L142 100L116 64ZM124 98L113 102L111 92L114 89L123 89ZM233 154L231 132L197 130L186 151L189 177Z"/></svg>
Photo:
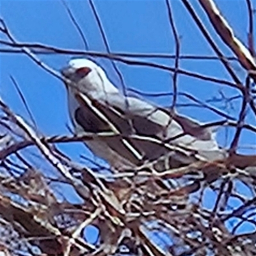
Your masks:
<svg viewBox="0 0 256 256"><path fill-rule="evenodd" d="M108 38L109 46L113 52L140 52L140 53L168 53L174 54L175 43L172 30L168 21L166 4L164 1L94 1L104 31ZM172 11L180 36L181 54L214 56L209 44L196 27L188 11L180 1L171 1ZM228 56L232 54L225 47L220 38L214 33L204 12L196 1L191 1L196 6L200 17L205 22L209 31L212 31L214 40L219 43L220 49ZM244 44L247 44L248 15L245 1L216 1L221 12L235 29L236 35ZM97 22L87 1L67 1L70 10L83 29L91 51L106 52ZM254 1L254 8L256 4ZM74 24L68 18L61 1L4 1L1 3L1 17L5 20L10 31L19 42L40 42L66 49L84 50L83 40L77 33ZM2 39L3 36L2 36ZM67 65L73 56L56 54L40 55L40 59L56 70ZM115 74L109 61L98 60L104 67L111 80L121 88L120 79ZM155 58L156 63L173 67L173 60ZM117 63L124 76L127 87L143 92L172 92L172 74L155 68L145 68ZM200 74L230 80L225 68L219 61L212 60L181 60L180 67ZM244 81L244 71L237 63L232 63L239 77ZM20 97L10 80L10 75L15 77L20 90L28 101L29 108L36 120L40 132L47 136L67 134L66 124L70 124L67 112L65 88L61 81L47 74L22 54L2 54L1 56L1 97L9 106L29 120L29 115L24 108ZM220 99L221 95L230 97L239 95L237 90L221 84L214 84L193 77L178 77L179 92L186 92L204 101ZM154 98L148 100L170 106L172 97ZM188 103L184 97L178 98L178 103ZM235 100L232 105L223 102L214 102L212 106L237 117L241 108L241 100ZM227 107L227 108L226 108ZM191 116L201 122L221 120L220 116L202 108L177 108L179 113ZM255 125L253 115L248 110L246 117L248 124ZM228 136L227 136L228 134ZM234 129L222 129L218 134L221 145L228 147L232 140ZM244 131L240 145L252 145L256 140L251 132ZM76 161L81 161L79 155L93 157L83 145L60 145L60 148L72 156ZM252 149L241 148L241 152L252 152Z"/></svg>

